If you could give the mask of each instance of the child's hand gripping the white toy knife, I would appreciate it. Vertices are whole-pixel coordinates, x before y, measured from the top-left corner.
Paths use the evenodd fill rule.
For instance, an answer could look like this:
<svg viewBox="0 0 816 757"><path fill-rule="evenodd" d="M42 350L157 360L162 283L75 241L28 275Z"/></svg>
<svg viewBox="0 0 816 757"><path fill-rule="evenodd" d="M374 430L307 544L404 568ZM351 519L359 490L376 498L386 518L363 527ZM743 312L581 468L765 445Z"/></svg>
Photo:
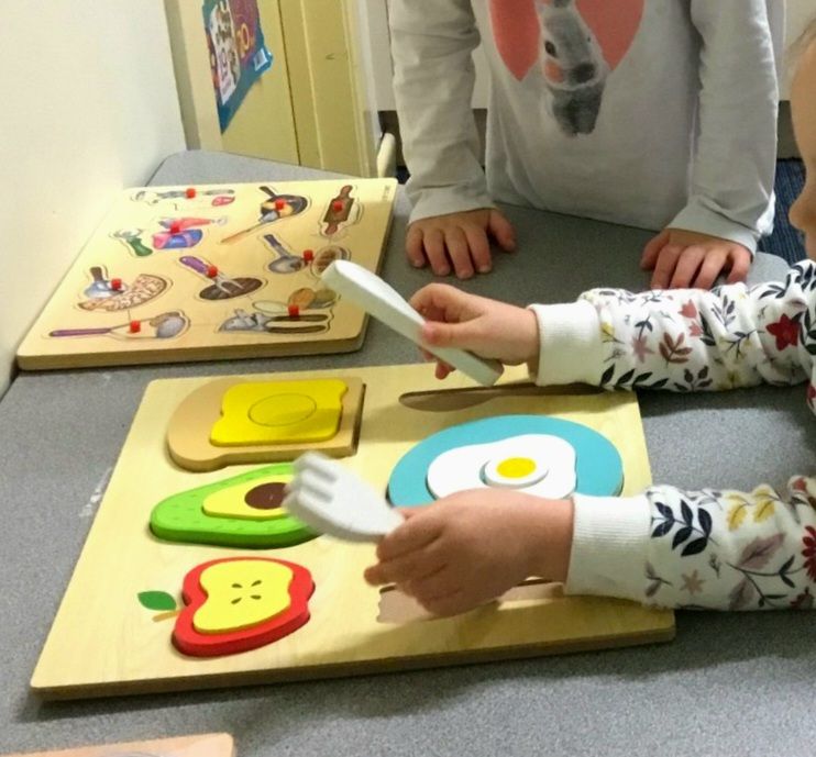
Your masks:
<svg viewBox="0 0 816 757"><path fill-rule="evenodd" d="M468 349L507 365L538 360L539 327L531 310L468 294L445 283L420 289L411 305L428 321L421 338L429 347ZM426 353L428 359L433 356ZM453 370L437 366L437 378Z"/></svg>

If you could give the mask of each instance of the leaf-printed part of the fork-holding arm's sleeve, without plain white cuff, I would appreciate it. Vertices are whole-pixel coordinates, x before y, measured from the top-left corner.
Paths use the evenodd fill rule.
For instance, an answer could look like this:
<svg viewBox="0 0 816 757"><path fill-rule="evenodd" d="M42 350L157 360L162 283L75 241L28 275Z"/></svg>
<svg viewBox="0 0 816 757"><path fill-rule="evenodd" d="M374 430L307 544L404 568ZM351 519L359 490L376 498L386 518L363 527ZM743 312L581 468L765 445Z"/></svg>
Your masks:
<svg viewBox="0 0 816 757"><path fill-rule="evenodd" d="M816 480L736 491L647 491L650 533L632 599L685 609L812 609Z"/></svg>

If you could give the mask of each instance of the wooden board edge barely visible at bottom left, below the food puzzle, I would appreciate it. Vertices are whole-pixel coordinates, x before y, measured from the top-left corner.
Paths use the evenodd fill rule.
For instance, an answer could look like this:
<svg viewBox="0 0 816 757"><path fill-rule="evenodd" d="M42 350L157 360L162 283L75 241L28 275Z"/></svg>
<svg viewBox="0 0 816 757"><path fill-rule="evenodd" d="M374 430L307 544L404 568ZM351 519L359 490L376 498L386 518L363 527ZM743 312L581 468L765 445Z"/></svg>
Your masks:
<svg viewBox="0 0 816 757"><path fill-rule="evenodd" d="M150 742L30 752L5 757L235 757L235 745L230 734L211 733L199 736L157 738Z"/></svg>

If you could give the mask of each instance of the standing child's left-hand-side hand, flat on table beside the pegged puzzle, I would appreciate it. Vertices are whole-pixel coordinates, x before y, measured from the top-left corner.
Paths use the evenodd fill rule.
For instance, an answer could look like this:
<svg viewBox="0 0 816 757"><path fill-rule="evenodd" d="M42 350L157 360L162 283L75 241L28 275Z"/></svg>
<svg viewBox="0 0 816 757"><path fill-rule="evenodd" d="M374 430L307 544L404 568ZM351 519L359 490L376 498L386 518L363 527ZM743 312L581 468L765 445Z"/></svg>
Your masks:
<svg viewBox="0 0 816 757"><path fill-rule="evenodd" d="M489 237L506 253L516 248L516 232L497 210L434 215L408 227L406 253L417 268L430 263L437 276L448 276L453 264L460 279L470 279L474 268L479 274L490 270Z"/></svg>

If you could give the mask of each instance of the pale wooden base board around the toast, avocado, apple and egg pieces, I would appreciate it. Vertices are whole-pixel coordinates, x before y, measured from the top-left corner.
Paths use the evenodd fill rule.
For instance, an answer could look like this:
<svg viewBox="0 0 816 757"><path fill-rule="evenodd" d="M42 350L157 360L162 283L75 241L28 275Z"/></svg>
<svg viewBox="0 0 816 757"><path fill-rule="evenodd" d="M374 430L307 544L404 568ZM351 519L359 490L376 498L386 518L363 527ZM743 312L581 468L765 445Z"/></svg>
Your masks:
<svg viewBox="0 0 816 757"><path fill-rule="evenodd" d="M381 492L385 492L397 461L422 439L455 424L506 414L545 414L594 428L620 454L624 494L642 491L650 483L633 394L552 394L529 385L509 383L520 375L512 371L501 386L489 390L474 389L459 375L440 385L431 365L276 378L357 379L365 385L359 447L341 461ZM224 381L266 379L268 376ZM671 612L611 599L562 597L552 586L532 595L521 591L522 587L514 590L508 601L457 617L421 620L416 608L364 582L363 570L375 559L371 544L320 536L258 552L155 537L148 522L158 502L253 470L238 467L191 474L174 465L167 455L165 433L176 409L212 383L211 379L176 379L154 381L147 388L34 671L31 686L41 695L80 698L201 689L672 638ZM178 609L184 609L185 577L213 561L236 558L269 558L306 569L315 585L308 599L308 622L274 643L240 654L228 649L217 657L191 657L173 642ZM249 593L243 579L230 581L229 587L238 593L228 603L261 595L253 581ZM298 617L302 620L302 613ZM235 621L239 626L242 622ZM235 623L228 625L235 628ZM205 623L207 630L213 631ZM218 635L211 637L217 639Z"/></svg>

